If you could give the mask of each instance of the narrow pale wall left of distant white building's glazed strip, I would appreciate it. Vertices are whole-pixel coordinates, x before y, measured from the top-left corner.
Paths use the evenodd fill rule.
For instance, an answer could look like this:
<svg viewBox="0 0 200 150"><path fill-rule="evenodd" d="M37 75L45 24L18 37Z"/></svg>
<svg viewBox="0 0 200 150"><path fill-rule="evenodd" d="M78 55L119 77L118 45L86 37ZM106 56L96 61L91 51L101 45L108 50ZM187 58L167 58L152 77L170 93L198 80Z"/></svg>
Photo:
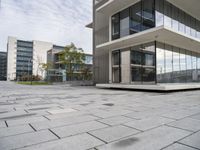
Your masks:
<svg viewBox="0 0 200 150"><path fill-rule="evenodd" d="M16 54L17 54L17 39L8 37L8 59L7 59L7 80L14 80L16 78Z"/></svg>

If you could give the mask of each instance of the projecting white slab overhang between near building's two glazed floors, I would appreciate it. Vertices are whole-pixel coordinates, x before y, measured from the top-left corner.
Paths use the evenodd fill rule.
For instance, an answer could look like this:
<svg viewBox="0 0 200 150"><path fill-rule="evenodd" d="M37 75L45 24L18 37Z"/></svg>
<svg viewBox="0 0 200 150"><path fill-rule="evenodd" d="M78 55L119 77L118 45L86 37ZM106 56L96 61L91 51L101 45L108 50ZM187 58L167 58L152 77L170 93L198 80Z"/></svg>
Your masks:
<svg viewBox="0 0 200 150"><path fill-rule="evenodd" d="M114 41L97 45L96 49L116 50L152 41L158 41L200 53L199 39L194 38L192 36L187 36L181 32L176 32L171 28L167 28L164 26L152 28Z"/></svg>

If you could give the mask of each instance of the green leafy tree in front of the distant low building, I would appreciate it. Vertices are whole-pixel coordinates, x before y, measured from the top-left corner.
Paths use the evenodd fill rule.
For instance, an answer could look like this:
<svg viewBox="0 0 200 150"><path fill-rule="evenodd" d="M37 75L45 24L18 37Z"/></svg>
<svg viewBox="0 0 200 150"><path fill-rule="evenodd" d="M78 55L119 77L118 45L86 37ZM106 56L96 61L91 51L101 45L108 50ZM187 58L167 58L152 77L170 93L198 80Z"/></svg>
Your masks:
<svg viewBox="0 0 200 150"><path fill-rule="evenodd" d="M71 45L65 47L64 51L59 53L59 61L65 66L68 79L72 80L74 71L77 68L83 68L85 54L82 48L77 48L71 43Z"/></svg>

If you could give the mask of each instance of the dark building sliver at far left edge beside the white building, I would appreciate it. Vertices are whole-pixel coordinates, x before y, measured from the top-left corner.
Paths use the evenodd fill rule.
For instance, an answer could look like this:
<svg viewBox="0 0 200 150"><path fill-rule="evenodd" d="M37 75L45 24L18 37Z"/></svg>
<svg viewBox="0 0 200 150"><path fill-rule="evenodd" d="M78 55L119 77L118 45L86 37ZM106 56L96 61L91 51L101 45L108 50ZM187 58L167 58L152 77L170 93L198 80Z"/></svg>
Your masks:
<svg viewBox="0 0 200 150"><path fill-rule="evenodd" d="M0 81L6 80L7 52L0 52Z"/></svg>

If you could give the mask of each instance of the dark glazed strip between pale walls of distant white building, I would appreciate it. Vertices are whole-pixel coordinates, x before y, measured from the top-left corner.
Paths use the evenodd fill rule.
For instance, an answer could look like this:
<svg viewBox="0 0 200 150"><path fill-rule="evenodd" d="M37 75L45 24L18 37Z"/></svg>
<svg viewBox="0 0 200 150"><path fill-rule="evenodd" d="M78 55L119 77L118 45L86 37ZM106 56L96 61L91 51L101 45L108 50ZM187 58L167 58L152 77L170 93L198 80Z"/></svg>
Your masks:
<svg viewBox="0 0 200 150"><path fill-rule="evenodd" d="M33 70L33 43L17 41L16 78L23 75L31 75Z"/></svg>

